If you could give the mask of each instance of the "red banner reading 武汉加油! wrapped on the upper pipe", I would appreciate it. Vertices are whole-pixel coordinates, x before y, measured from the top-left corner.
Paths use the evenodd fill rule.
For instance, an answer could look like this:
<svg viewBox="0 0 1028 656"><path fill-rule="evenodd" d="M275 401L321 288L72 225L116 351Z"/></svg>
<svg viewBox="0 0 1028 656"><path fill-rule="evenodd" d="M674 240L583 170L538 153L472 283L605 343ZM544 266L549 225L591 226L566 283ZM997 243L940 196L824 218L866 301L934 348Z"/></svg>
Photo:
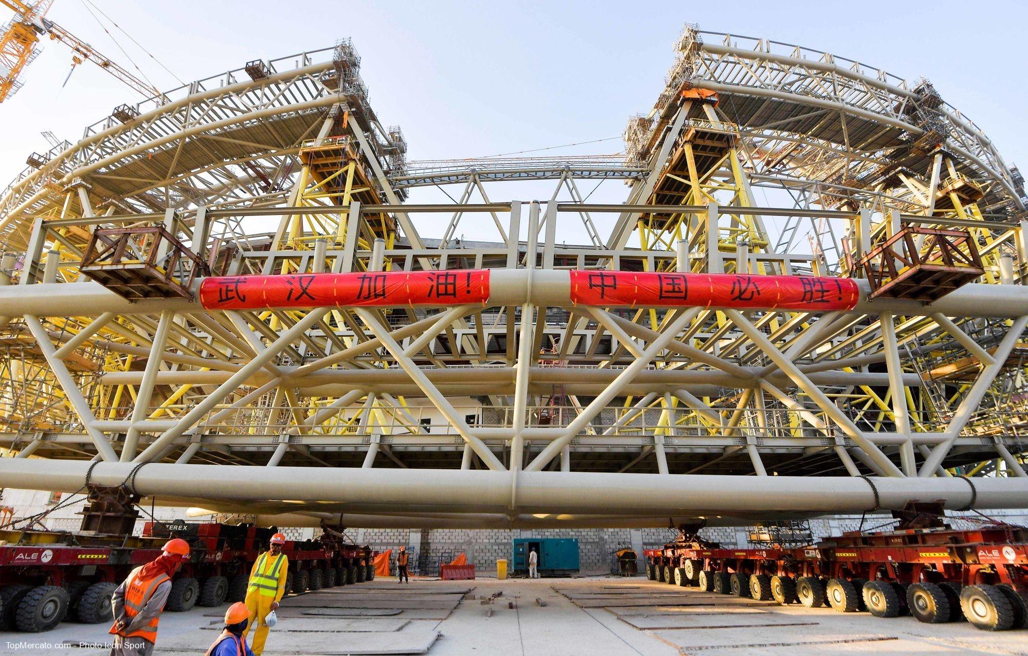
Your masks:
<svg viewBox="0 0 1028 656"><path fill-rule="evenodd" d="M463 305L488 298L488 269L225 276L199 288L208 309Z"/></svg>

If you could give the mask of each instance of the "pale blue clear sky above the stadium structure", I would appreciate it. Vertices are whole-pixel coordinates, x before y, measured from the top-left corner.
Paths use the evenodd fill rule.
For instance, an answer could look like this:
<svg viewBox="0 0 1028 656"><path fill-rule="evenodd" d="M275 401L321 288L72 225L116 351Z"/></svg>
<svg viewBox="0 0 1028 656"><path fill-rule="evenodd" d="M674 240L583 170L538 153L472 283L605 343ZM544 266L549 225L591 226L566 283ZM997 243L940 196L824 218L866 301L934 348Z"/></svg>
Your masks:
<svg viewBox="0 0 1028 656"><path fill-rule="evenodd" d="M652 107L688 21L924 75L1008 163L1028 167L1028 5L1019 2L94 2L186 81L352 36L370 101L383 124L403 127L413 159L619 136L629 114ZM131 66L82 0L57 0L49 17ZM157 86L179 85L114 34ZM68 48L47 41L25 87L0 105L0 184L46 147L41 131L75 141L135 98L91 65L62 88L69 67Z"/></svg>

